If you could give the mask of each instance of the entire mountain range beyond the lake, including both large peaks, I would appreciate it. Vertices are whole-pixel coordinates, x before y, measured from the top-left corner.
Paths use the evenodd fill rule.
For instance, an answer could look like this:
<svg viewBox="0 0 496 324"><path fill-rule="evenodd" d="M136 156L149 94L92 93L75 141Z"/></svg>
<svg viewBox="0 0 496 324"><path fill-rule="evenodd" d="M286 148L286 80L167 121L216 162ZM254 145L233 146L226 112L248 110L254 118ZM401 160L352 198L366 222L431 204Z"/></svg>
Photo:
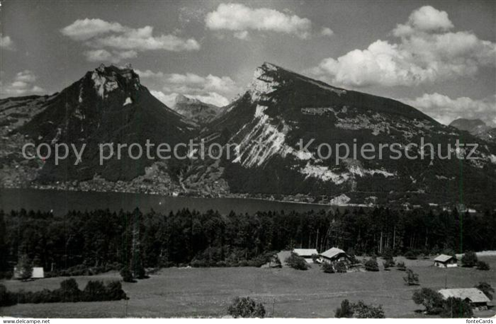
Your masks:
<svg viewBox="0 0 496 324"><path fill-rule="evenodd" d="M222 109L186 97L174 106L176 111L153 97L132 68L113 65L89 71L51 96L0 100L0 183L326 204L496 207L496 144L392 99L264 63L246 91ZM179 107L189 118L178 113ZM219 144L231 155L133 160L124 149L121 159L99 163L99 143L144 148L146 140L174 146L189 139L202 140L206 147ZM429 145L418 146L422 140L433 145L432 159ZM473 154L468 147L456 149L457 140L478 147ZM61 143L86 144L86 149L79 164L73 165L71 153L56 165L53 158L24 159L21 148L29 142L46 143L52 150ZM350 155L344 158L341 146L343 158L336 159L336 144L346 144ZM366 156L360 155L364 144ZM394 158L395 145L401 158ZM440 153L435 152L438 145ZM375 157L370 158L370 147ZM476 159L457 159L455 153Z"/></svg>

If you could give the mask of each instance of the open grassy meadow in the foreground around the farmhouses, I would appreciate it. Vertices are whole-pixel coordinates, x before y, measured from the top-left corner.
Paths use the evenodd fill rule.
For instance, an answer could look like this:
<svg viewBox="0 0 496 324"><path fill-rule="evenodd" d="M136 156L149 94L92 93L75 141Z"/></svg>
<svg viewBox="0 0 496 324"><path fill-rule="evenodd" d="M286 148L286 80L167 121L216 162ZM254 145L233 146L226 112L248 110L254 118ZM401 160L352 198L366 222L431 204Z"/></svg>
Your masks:
<svg viewBox="0 0 496 324"><path fill-rule="evenodd" d="M401 259L401 258L398 258ZM496 287L496 257L480 257L491 270L438 269L430 260L406 260L419 274L423 287L472 287L486 281ZM382 261L378 260L381 265ZM350 272L327 274L318 265L308 271L289 268L169 268L137 283L124 283L128 301L23 304L0 309L0 315L15 317L222 317L236 296L251 296L265 304L267 317L333 317L345 298L350 301L382 304L386 317L412 318L411 297L418 286L406 286L403 271ZM75 277L79 288L88 280L118 280L119 273ZM56 289L65 278L46 278L31 282L3 281L9 290ZM494 309L476 316L489 317Z"/></svg>

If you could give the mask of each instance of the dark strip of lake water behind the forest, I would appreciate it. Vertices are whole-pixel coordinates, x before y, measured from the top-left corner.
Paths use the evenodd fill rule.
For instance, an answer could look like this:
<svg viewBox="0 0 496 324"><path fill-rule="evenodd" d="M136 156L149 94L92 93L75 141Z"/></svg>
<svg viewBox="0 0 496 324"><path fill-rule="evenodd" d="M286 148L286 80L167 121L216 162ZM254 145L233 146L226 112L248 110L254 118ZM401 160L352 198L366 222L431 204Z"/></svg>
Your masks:
<svg viewBox="0 0 496 324"><path fill-rule="evenodd" d="M111 211L132 211L138 207L143 212L150 209L156 212L176 212L183 208L205 212L217 210L221 214L255 213L257 211L305 212L309 210L326 211L334 206L299 204L244 198L194 198L171 197L149 194L119 192L84 192L41 189L0 189L0 210L53 210L55 215L64 215L69 210L110 209Z"/></svg>

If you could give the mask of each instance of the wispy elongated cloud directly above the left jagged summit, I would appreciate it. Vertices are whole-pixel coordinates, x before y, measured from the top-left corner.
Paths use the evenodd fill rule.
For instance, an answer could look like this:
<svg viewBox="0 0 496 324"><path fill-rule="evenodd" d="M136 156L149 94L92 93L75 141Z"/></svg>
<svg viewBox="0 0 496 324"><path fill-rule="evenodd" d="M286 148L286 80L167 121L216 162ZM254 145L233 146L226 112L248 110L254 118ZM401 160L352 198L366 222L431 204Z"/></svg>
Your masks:
<svg viewBox="0 0 496 324"><path fill-rule="evenodd" d="M130 28L102 19L78 19L61 29L61 33L95 50L86 51L89 61L117 63L134 58L138 52L164 50L170 52L197 51L200 44L193 38L173 34L154 35L152 26Z"/></svg>

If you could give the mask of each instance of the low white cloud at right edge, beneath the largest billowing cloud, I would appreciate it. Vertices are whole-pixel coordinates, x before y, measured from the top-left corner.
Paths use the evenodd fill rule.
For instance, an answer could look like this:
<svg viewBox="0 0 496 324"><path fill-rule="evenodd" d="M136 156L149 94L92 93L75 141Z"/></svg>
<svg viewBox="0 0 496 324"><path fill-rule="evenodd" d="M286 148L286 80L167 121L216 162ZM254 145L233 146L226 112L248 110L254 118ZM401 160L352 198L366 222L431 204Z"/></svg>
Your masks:
<svg viewBox="0 0 496 324"><path fill-rule="evenodd" d="M483 100L468 97L451 99L438 93L424 94L415 99L400 99L402 102L418 108L442 124L449 124L457 118L482 119L496 126L496 96Z"/></svg>

